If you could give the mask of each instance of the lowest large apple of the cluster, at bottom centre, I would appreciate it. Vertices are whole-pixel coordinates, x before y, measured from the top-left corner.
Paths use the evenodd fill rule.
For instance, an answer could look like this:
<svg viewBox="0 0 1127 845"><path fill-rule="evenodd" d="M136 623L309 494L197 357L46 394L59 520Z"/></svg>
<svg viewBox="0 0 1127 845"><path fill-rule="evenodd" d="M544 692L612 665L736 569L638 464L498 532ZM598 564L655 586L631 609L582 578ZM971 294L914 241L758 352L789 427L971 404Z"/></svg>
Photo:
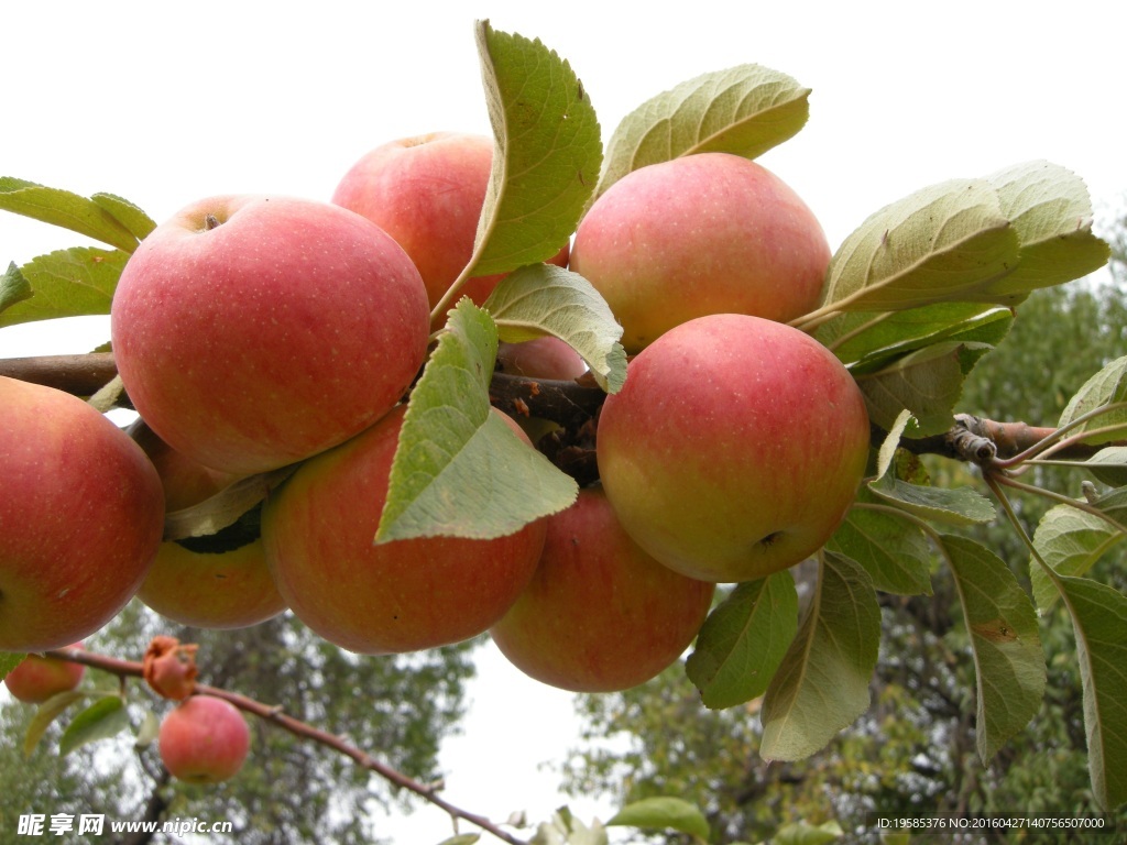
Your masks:
<svg viewBox="0 0 1127 845"><path fill-rule="evenodd" d="M586 487L548 517L532 582L489 633L514 666L544 684L627 690L681 656L715 589L654 560L622 530L602 488Z"/></svg>

